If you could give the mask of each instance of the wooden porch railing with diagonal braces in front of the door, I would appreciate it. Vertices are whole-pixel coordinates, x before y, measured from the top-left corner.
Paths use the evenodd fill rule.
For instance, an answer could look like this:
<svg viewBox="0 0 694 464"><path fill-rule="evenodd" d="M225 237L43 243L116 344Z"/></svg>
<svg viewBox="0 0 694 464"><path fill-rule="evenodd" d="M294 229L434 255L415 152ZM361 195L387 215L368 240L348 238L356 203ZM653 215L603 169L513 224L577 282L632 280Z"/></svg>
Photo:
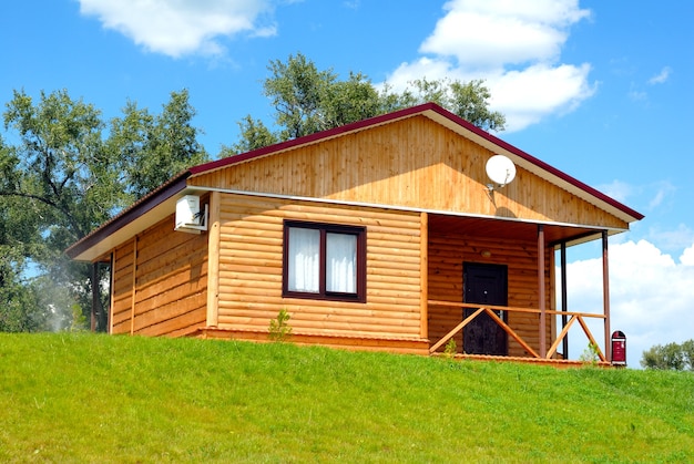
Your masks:
<svg viewBox="0 0 694 464"><path fill-rule="evenodd" d="M460 322L450 332L448 332L446 336L443 336L443 338L441 338L439 341L433 343L431 346L431 348L429 349L429 353L435 353L436 350L438 350L443 344L446 344L451 338L453 338L467 324L469 324L471 321L473 321L474 318L477 318L479 315L487 313L494 322L497 322L497 324L499 324L499 327L501 327L509 334L509 337L511 337L513 340L516 340L533 358L538 358L538 359L551 359L554 355L554 353L557 353L557 349L559 348L559 346L562 342L562 340L564 339L564 337L567 337L567 334L569 333L569 329L571 329L571 326L573 326L573 323L575 321L579 321L579 324L583 329L583 332L585 333L585 337L588 337L588 340L590 341L591 346L595 347L595 351L596 351L596 354L600 358L600 360L603 361L603 362L608 361L605 355L603 354L603 352L600 350L600 347L595 342L595 339L593 338L593 334L591 333L591 331L588 328L588 324L585 323L585 320L584 320L584 318L605 319L604 315L588 313L588 312L545 310L544 313L548 315L548 316L568 316L568 317L570 317L570 319L567 322L567 324L564 326L564 328L562 329L562 331L559 333L559 336L557 337L557 339L554 340L552 346L549 348L547 353L542 354L542 353L538 353L532 347L530 347L530 344L527 343L523 340L523 338L521 336L519 336L518 332L516 332L516 330L513 330L511 327L509 327L509 324L506 323L494 312L494 311L508 311L508 312L524 312L524 313L540 315L542 311L539 310L539 309L513 308L513 307L508 307L508 306L491 306L491 305L480 306L479 303L477 303L477 305L476 303L460 303L460 302L437 301L437 300L429 300L428 302L429 302L429 306L453 307L453 308L461 308L461 309L462 308L472 308L472 309L477 308L477 310L473 313L471 313L470 316L465 318L462 320L462 322ZM538 330L540 330L540 329L538 328Z"/></svg>

